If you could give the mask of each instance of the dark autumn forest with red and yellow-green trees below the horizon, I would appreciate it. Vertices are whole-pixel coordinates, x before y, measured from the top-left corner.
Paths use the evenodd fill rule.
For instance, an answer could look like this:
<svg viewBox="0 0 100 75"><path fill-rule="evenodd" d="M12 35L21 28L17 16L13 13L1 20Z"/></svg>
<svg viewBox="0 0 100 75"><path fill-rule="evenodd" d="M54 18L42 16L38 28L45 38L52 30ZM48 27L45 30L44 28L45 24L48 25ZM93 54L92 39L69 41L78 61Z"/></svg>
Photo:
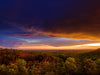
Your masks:
<svg viewBox="0 0 100 75"><path fill-rule="evenodd" d="M100 75L100 49L95 51L0 49L0 75Z"/></svg>

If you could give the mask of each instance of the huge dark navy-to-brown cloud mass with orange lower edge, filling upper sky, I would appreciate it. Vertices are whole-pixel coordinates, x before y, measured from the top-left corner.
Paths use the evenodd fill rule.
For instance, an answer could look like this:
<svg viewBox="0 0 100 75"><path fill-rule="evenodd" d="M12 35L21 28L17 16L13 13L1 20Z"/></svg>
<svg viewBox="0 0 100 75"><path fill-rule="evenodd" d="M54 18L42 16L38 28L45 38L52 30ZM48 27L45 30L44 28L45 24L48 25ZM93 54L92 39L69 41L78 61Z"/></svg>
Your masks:
<svg viewBox="0 0 100 75"><path fill-rule="evenodd" d="M0 32L100 40L99 3L100 0L3 0Z"/></svg>

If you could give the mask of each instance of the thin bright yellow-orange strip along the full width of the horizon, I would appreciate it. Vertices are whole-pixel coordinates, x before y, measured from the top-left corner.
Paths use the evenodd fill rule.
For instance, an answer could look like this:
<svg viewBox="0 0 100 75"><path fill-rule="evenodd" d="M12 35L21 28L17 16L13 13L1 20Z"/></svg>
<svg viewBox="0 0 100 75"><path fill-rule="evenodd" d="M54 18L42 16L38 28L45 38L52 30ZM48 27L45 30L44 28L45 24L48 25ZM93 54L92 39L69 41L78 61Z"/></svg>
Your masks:
<svg viewBox="0 0 100 75"><path fill-rule="evenodd" d="M7 48L7 47L1 47ZM91 44L83 44L83 45L74 45L74 46L61 46L54 47L48 45L40 45L40 46L19 46L16 48L8 48L8 49L17 49L17 50L94 50L100 48L100 43L91 43Z"/></svg>

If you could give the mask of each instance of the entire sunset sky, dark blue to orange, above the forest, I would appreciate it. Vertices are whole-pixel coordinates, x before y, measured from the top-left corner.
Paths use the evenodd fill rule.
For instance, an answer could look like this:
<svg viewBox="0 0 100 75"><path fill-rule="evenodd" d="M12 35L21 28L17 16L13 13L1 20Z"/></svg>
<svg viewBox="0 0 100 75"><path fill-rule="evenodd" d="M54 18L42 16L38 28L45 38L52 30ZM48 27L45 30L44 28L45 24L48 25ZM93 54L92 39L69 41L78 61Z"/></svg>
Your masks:
<svg viewBox="0 0 100 75"><path fill-rule="evenodd" d="M0 0L0 47L100 48L100 0Z"/></svg>

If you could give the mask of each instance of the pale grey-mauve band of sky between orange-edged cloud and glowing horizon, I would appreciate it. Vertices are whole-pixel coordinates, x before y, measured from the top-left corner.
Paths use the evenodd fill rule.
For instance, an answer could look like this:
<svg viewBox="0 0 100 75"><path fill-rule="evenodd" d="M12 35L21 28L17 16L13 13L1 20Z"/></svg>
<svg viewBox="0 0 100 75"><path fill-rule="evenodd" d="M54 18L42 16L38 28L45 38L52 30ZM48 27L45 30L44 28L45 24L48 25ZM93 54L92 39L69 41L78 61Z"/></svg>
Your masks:
<svg viewBox="0 0 100 75"><path fill-rule="evenodd" d="M43 39L21 39L27 44L44 44L50 46L73 46L73 45L82 45L90 43L99 43L100 41L87 41L87 40L74 40L68 38L43 38Z"/></svg>

